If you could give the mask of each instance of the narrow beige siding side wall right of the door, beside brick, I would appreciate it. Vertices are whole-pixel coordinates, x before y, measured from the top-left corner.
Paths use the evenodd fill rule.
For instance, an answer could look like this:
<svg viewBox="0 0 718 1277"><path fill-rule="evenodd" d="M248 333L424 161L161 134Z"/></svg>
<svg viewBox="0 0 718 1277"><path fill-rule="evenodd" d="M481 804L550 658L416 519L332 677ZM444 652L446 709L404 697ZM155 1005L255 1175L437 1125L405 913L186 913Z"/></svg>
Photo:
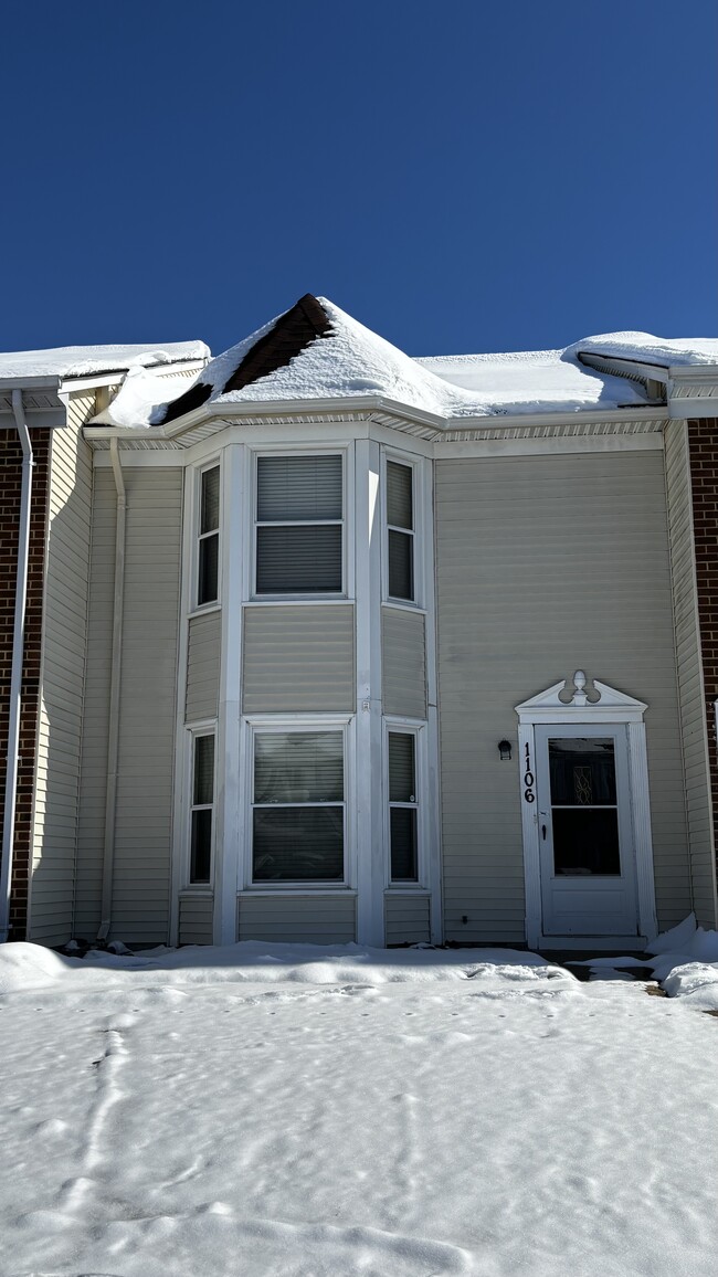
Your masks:
<svg viewBox="0 0 718 1277"><path fill-rule="evenodd" d="M715 858L685 421L671 421L666 430L666 488L694 908L703 926L714 927Z"/></svg>

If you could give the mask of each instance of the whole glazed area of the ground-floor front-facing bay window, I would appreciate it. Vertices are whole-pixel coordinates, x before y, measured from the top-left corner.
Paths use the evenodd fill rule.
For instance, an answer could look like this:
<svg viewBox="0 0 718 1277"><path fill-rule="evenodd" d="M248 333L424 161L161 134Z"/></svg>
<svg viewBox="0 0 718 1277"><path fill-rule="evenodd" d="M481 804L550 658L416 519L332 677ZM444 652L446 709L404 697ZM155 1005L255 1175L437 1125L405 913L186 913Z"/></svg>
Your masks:
<svg viewBox="0 0 718 1277"><path fill-rule="evenodd" d="M344 732L254 733L252 881L345 881Z"/></svg>

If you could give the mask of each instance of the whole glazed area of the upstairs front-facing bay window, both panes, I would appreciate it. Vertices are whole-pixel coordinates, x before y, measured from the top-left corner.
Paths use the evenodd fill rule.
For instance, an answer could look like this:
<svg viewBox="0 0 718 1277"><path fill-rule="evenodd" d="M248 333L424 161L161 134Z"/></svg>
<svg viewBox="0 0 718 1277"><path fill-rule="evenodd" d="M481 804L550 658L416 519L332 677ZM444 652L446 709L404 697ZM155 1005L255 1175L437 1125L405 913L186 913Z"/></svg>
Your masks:
<svg viewBox="0 0 718 1277"><path fill-rule="evenodd" d="M257 458L257 594L341 594L340 453Z"/></svg>

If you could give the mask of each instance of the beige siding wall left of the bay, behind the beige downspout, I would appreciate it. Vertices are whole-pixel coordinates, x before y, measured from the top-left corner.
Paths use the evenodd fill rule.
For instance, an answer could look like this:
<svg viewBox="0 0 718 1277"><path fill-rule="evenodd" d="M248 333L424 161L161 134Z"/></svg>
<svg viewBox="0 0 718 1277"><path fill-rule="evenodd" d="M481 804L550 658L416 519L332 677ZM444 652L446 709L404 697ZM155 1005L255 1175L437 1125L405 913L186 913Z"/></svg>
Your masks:
<svg viewBox="0 0 718 1277"><path fill-rule="evenodd" d="M181 470L124 469L125 590L111 935L164 941L169 928L179 628ZM95 472L88 668L75 930L100 925L107 769L115 488Z"/></svg>

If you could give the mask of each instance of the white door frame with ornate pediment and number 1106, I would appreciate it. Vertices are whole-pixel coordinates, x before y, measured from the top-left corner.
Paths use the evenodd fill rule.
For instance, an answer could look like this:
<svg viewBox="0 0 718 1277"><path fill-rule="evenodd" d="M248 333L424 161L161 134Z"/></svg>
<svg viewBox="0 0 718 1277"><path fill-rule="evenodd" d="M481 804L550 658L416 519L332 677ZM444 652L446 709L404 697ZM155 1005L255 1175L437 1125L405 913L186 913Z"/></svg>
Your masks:
<svg viewBox="0 0 718 1277"><path fill-rule="evenodd" d="M530 949L639 949L658 933L655 886L653 879L653 839L648 788L648 755L643 701L593 681L586 692L586 676L574 674L553 683L544 692L516 705L519 715L519 773L521 782L521 827L524 836L524 884L526 893L526 942ZM542 926L540 843L537 803L537 725L574 724L594 730L600 724L625 727L629 752L630 820L635 854L639 935L634 936L546 936Z"/></svg>

